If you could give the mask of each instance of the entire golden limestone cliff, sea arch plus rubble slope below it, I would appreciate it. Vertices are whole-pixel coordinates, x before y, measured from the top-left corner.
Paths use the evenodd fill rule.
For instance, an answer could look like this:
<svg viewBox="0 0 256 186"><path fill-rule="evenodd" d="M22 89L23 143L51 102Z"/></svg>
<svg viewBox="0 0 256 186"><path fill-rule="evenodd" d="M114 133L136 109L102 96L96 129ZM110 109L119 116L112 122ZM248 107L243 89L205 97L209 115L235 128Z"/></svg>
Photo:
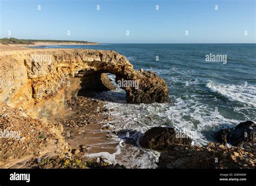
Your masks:
<svg viewBox="0 0 256 186"><path fill-rule="evenodd" d="M163 79L151 72L134 70L125 56L117 52L87 49L1 51L0 168L17 166L17 162L44 154L69 156L71 148L62 135L63 126L47 118L48 112L62 110L60 102L64 89L73 90L75 86L83 91L113 90L115 87L104 73L115 74L116 82L138 82L137 87L122 87L128 103L162 103L169 99ZM49 103L55 99L58 102ZM39 117L41 103L51 107L49 111L42 106L44 117ZM17 132L10 138L10 134Z"/></svg>

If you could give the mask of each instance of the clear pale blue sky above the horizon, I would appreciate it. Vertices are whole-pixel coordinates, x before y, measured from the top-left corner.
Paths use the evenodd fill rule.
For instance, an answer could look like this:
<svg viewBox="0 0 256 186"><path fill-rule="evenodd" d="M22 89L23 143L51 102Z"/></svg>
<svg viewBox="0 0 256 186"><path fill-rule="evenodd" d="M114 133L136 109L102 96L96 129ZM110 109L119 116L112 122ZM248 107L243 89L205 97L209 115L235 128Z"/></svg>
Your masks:
<svg viewBox="0 0 256 186"><path fill-rule="evenodd" d="M0 38L255 43L255 9L255 0L0 0Z"/></svg>

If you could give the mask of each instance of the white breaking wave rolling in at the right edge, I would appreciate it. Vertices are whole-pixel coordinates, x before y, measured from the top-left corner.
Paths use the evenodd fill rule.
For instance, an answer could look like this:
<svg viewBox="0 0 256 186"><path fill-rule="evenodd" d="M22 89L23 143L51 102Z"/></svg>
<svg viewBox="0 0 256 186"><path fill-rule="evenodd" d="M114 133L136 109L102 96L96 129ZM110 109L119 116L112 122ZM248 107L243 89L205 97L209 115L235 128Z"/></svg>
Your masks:
<svg viewBox="0 0 256 186"><path fill-rule="evenodd" d="M231 101L238 101L256 108L256 86L221 84L210 81L206 84L214 92L224 95Z"/></svg>

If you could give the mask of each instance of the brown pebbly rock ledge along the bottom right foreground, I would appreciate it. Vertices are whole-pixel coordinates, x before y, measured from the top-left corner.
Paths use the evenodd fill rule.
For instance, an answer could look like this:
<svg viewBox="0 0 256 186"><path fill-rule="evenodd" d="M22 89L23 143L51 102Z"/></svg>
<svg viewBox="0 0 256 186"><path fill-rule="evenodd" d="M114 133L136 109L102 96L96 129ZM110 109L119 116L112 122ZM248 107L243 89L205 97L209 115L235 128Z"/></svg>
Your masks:
<svg viewBox="0 0 256 186"><path fill-rule="evenodd" d="M227 148L209 143L206 146L173 144L161 153L158 168L255 168L256 146Z"/></svg>

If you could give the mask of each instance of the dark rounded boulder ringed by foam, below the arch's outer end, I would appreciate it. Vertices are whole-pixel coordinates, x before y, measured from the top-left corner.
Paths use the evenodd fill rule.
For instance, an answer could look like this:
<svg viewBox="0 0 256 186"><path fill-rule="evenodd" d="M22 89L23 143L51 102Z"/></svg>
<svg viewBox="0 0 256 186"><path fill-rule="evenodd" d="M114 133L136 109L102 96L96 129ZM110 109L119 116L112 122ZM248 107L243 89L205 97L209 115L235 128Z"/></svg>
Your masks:
<svg viewBox="0 0 256 186"><path fill-rule="evenodd" d="M176 138L178 135L179 138ZM184 137L184 138L183 138ZM158 151L165 151L170 145L184 144L191 145L191 138L187 135L176 133L174 128L170 127L153 127L146 131L140 140L140 145L144 148L152 148Z"/></svg>

